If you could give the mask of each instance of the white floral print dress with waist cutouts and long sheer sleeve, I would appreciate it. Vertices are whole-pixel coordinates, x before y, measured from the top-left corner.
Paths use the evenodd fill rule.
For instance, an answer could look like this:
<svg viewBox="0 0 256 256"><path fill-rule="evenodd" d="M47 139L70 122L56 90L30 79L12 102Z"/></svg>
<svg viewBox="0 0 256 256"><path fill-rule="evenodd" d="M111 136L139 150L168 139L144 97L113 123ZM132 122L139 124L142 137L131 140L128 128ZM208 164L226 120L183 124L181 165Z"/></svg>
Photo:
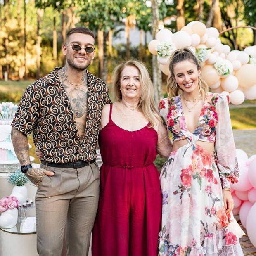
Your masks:
<svg viewBox="0 0 256 256"><path fill-rule="evenodd" d="M197 128L186 126L180 96L159 103L173 141L188 143L171 152L161 170L162 228L159 256L242 256L244 232L225 213L223 187L237 182L235 143L225 95L206 95ZM197 141L214 142L212 156Z"/></svg>

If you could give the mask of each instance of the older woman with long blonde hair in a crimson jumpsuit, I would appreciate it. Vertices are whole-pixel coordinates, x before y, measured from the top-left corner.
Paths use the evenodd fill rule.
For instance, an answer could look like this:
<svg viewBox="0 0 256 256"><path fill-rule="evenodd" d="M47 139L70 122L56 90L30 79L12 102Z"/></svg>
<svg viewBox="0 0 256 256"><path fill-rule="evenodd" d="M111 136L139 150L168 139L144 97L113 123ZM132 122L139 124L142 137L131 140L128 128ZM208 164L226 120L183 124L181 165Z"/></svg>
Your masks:
<svg viewBox="0 0 256 256"><path fill-rule="evenodd" d="M116 102L105 105L100 125L100 201L92 255L157 255L161 188L153 161L168 156L168 134L154 107L144 64L130 60L113 73Z"/></svg>

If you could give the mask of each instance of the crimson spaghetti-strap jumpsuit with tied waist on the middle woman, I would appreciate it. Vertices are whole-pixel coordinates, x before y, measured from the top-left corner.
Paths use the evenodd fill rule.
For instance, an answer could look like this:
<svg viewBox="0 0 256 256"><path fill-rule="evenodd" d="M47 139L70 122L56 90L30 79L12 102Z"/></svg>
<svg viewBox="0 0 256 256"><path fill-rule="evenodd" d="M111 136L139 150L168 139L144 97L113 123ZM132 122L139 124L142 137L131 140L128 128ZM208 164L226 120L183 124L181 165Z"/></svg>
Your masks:
<svg viewBox="0 0 256 256"><path fill-rule="evenodd" d="M99 135L103 165L92 255L158 254L162 197L156 159L158 136L148 125L127 131L111 119Z"/></svg>

